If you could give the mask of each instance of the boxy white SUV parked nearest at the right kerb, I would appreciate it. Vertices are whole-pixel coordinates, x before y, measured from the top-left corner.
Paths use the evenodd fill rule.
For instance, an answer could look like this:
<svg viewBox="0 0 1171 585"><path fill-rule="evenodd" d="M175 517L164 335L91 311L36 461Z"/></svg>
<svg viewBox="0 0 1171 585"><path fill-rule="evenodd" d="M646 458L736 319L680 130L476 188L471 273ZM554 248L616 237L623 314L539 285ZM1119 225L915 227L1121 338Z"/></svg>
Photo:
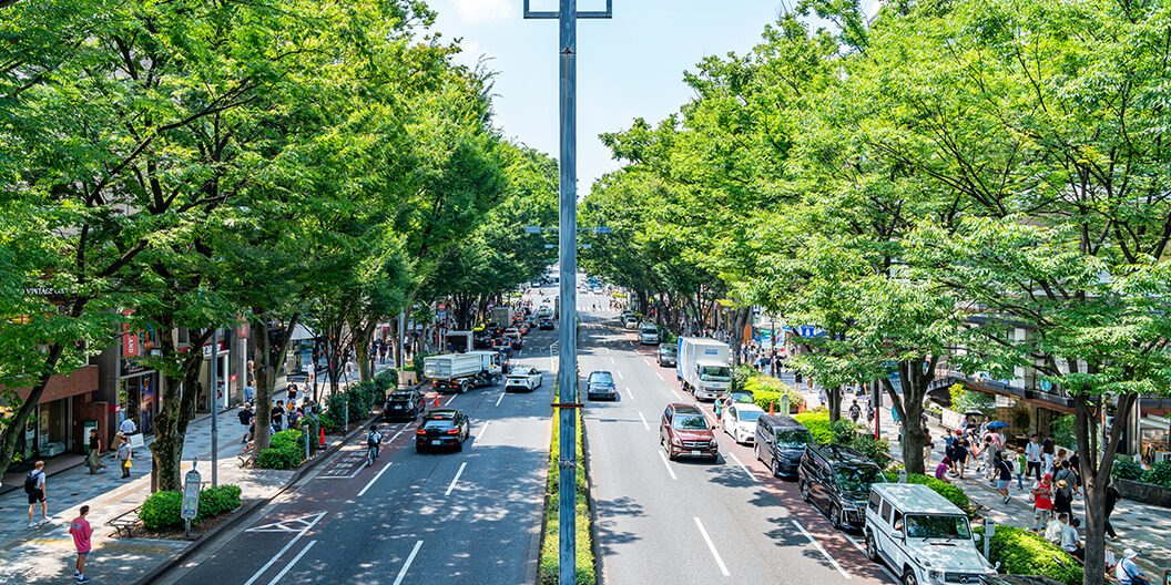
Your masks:
<svg viewBox="0 0 1171 585"><path fill-rule="evenodd" d="M904 585L979 583L997 570L980 555L967 516L927 486L876 483L865 521L867 556Z"/></svg>

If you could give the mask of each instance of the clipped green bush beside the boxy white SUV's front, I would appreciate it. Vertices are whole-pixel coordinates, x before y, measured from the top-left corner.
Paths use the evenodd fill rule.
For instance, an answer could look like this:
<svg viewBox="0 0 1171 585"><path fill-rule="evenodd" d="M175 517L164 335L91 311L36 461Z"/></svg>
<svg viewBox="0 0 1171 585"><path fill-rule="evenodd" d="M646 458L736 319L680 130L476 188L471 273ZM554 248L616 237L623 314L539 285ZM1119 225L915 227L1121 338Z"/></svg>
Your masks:
<svg viewBox="0 0 1171 585"><path fill-rule="evenodd" d="M984 538L984 526L973 526ZM1008 574L1043 574L1067 585L1081 585L1082 566L1043 536L1023 528L997 526L988 550L988 562L1000 563Z"/></svg>

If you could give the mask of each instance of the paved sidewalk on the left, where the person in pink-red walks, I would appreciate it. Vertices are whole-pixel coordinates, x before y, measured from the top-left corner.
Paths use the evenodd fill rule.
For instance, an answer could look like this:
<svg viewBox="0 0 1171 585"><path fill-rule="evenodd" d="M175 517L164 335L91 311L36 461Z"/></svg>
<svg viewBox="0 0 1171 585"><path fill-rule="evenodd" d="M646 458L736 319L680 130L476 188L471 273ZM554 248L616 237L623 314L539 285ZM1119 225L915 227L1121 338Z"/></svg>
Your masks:
<svg viewBox="0 0 1171 585"><path fill-rule="evenodd" d="M379 370L385 366L379 367ZM268 498L283 489L296 475L295 470L242 469L237 455L244 450L240 439L246 428L240 425L238 411L219 413L218 442L219 484L239 486L246 500ZM210 414L197 418L187 428L183 448L183 472L191 469L192 457L198 456L197 469L206 486L211 486L211 428ZM150 438L149 438L150 439ZM341 438L327 438L329 447ZM151 454L144 447L135 449L131 477L119 479L117 463L105 454L107 464L97 475L89 475L85 466L50 475L46 482L52 523L29 529L28 496L22 489L0 495L0 583L62 583L73 576L76 552L69 536L69 521L84 504L90 507L89 519L94 529L94 551L85 564L85 573L95 583L135 583L171 555L190 543L149 538L115 538L114 529L105 522L130 511L150 496ZM36 516L40 519L40 504ZM116 577L114 577L116 576Z"/></svg>

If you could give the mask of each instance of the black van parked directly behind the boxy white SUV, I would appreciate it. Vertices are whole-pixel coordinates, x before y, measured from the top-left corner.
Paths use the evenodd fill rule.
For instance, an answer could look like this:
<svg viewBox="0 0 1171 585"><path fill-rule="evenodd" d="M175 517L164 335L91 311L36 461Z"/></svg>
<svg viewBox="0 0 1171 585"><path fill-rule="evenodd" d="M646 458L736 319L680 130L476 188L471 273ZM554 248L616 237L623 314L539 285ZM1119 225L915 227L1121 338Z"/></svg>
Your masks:
<svg viewBox="0 0 1171 585"><path fill-rule="evenodd" d="M797 470L801 498L820 509L837 529L861 529L870 484L885 481L882 468L844 445L809 443Z"/></svg>

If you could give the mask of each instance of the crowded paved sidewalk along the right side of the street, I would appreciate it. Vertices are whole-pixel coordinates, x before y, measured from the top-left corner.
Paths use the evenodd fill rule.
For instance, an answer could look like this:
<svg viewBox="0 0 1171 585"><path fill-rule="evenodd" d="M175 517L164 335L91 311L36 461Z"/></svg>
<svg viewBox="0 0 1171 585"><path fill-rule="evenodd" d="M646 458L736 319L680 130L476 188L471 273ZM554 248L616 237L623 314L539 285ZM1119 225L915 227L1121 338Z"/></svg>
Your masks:
<svg viewBox="0 0 1171 585"><path fill-rule="evenodd" d="M843 404L848 405L850 398L852 397L843 400ZM933 422L929 422L927 427L936 443L936 448L931 453L931 472L933 472L934 466L944 457L944 445L939 439L944 436L946 431ZM884 417L882 420L882 435L890 442L891 456L902 460L902 453L898 450L898 432L889 417ZM974 503L987 508L980 514L997 524L1033 528L1033 503L1029 500L1032 483L1028 480L1023 480L1025 490L1019 490L1014 473L1008 491L1012 498L1008 503L1004 503L1004 498L997 494L992 484L984 481L984 474L975 473L977 463L970 459L968 466L963 480L959 477L949 477L949 480L953 486L961 488ZM1086 500L1081 495L1075 496L1071 508L1074 515L1082 518L1084 526ZM1115 558L1122 558L1124 549L1135 549L1138 551L1139 566L1148 577L1159 581L1163 571L1171 569L1171 531L1167 530L1171 526L1171 509L1122 500L1115 505L1114 514L1110 515L1110 524L1118 534L1118 539L1110 541L1108 536L1107 550L1114 551ZM1084 531L1082 535L1084 537Z"/></svg>

